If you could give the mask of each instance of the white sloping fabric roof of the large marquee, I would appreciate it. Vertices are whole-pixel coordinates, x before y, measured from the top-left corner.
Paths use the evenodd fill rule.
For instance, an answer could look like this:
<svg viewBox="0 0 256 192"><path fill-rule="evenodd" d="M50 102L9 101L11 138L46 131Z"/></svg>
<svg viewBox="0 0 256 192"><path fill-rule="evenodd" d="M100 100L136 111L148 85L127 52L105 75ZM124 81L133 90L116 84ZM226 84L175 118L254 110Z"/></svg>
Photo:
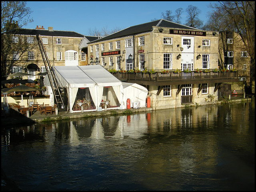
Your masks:
<svg viewBox="0 0 256 192"><path fill-rule="evenodd" d="M116 86L122 82L101 65L86 66L54 66L53 72L62 86L84 88L98 86ZM48 76L47 76L48 78ZM48 85L48 80L44 80Z"/></svg>

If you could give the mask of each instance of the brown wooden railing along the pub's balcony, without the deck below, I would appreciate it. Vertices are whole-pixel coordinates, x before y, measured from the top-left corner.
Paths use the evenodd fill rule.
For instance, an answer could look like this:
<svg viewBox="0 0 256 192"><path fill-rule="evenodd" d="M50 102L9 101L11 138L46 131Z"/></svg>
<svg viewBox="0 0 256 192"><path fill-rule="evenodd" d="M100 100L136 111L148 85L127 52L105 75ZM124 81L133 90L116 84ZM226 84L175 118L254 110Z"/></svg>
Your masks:
<svg viewBox="0 0 256 192"><path fill-rule="evenodd" d="M198 81L198 80L232 80L238 81L238 72L155 72L155 73L128 73L128 72L115 72L113 75L119 80L142 80L152 82L167 82L167 81Z"/></svg>

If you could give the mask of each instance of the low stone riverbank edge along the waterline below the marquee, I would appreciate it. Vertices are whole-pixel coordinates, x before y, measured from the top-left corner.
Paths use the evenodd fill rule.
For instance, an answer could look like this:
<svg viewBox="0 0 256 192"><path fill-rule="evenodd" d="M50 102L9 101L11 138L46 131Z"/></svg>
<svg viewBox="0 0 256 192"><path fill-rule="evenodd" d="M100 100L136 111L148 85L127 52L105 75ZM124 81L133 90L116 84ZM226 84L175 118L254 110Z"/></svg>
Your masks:
<svg viewBox="0 0 256 192"><path fill-rule="evenodd" d="M254 96L252 96L254 99ZM240 98L240 97L231 97L230 100L220 98L217 102L217 104L227 103L227 102L250 102L252 98ZM194 106L194 103L184 105L184 107L187 106ZM47 114L47 115L40 115L39 111L34 112L29 118L26 116L23 116L21 114L18 114L18 112L12 110L10 112L10 116L6 118L1 119L1 125L2 126L13 126L13 125L29 125L33 124L35 122L41 122L41 121L55 121L55 120L69 120L74 118L89 118L89 117L96 117L96 116L107 116L107 115L118 115L118 114L133 114L137 112L148 112L154 110L153 108L138 108L134 109L131 108L129 110L107 110L107 111L93 111L93 112L77 112L77 113L68 113L59 111L58 115L55 113Z"/></svg>

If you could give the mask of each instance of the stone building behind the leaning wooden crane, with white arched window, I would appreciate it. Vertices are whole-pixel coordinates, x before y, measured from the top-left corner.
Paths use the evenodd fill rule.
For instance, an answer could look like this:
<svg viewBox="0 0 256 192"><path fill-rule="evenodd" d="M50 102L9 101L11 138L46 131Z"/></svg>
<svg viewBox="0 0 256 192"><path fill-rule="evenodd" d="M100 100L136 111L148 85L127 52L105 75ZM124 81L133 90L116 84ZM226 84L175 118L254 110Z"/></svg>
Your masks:
<svg viewBox="0 0 256 192"><path fill-rule="evenodd" d="M81 53L79 45L84 35L74 31L59 31L53 27L44 29L37 26L36 29L17 28L13 35L13 42L27 41L27 49L24 52L13 51L6 61L6 65L10 66L7 73L28 72L30 74L38 74L46 72L44 61L40 47L38 45L37 35L42 37L42 42L46 48L48 58L51 65L54 66L72 66L86 65L88 60L85 53ZM15 45L14 45L15 46ZM28 76L29 79L35 80L37 76ZM24 76L23 78L26 78Z"/></svg>

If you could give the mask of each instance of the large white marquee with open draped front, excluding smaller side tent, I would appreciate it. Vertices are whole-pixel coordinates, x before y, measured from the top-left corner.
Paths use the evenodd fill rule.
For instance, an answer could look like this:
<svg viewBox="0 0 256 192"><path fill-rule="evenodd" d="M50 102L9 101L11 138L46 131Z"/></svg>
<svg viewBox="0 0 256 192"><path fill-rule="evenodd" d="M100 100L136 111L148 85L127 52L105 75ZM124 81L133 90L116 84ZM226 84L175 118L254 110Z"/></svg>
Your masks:
<svg viewBox="0 0 256 192"><path fill-rule="evenodd" d="M110 100L110 104L115 102L114 105L119 106L118 103L122 103L122 82L106 71L101 65L54 66L52 71L58 85L67 88L70 112L74 112L73 106L77 99L77 94L82 88L88 88L90 91L90 98L96 107L94 110L99 108L102 99L109 100L115 97L115 101ZM51 89L48 76L44 78L44 85L48 91Z"/></svg>

